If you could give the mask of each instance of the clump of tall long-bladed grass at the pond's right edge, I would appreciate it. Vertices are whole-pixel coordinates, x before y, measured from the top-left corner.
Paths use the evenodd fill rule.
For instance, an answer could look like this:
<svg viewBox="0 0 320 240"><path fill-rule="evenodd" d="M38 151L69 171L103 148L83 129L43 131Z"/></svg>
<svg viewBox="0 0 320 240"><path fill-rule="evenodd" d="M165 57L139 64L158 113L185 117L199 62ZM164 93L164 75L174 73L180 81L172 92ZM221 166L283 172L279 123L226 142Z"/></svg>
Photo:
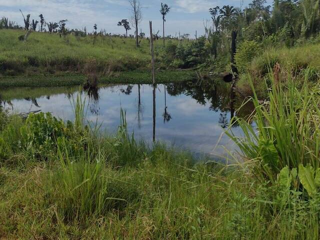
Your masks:
<svg viewBox="0 0 320 240"><path fill-rule="evenodd" d="M319 167L319 84L311 86L305 73L303 84L297 87L290 74L288 79L276 80L271 73L268 101L260 104L253 89L255 113L249 124L236 118L244 137L229 136L240 147L243 156L254 161L252 172L259 178L267 176L274 182L276 174L285 166L290 169L311 164Z"/></svg>

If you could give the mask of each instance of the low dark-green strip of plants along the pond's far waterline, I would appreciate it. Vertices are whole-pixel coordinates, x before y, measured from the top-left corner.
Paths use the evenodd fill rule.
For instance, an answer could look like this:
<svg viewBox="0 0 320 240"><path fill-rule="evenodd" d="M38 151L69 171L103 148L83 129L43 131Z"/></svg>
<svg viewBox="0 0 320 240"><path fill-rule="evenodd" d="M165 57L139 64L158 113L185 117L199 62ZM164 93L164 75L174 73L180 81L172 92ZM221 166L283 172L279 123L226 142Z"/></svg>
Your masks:
<svg viewBox="0 0 320 240"><path fill-rule="evenodd" d="M157 83L188 81L196 77L192 70L163 70L156 72ZM40 87L81 85L86 76L81 73L60 72L57 74L34 74L0 77L0 87ZM110 76L101 76L98 83L151 84L149 71L113 72Z"/></svg>

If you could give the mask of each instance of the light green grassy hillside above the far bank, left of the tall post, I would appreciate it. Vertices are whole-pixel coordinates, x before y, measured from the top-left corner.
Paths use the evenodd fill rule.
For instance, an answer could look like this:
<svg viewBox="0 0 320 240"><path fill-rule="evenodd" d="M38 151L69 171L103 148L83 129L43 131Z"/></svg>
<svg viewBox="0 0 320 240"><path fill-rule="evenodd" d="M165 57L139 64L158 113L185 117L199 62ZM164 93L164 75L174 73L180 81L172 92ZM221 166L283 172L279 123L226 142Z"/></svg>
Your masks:
<svg viewBox="0 0 320 240"><path fill-rule="evenodd" d="M140 47L133 38L97 36L66 39L58 34L32 32L27 41L18 40L21 30L0 30L0 74L33 74L54 72L82 72L89 58L96 59L99 72L150 69L150 49L147 39ZM161 42L155 41L155 47Z"/></svg>

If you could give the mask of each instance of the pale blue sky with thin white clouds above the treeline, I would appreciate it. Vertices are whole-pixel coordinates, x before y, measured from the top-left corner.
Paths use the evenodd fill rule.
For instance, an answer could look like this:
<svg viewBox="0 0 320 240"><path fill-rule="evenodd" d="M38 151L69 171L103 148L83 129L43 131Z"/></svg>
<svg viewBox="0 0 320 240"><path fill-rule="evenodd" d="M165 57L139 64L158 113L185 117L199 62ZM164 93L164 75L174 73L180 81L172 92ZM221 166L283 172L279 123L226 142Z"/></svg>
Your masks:
<svg viewBox="0 0 320 240"><path fill-rule="evenodd" d="M140 2L143 6L140 27L146 34L149 20L153 22L153 31L161 32L162 18L159 12L161 2L171 7L171 12L166 16L165 33L171 35L175 35L178 31L194 35L195 30L198 35L203 34L203 22L207 19L208 24L211 24L208 8L225 4L240 6L240 0L140 0ZM244 0L243 7L249 2ZM130 18L127 0L0 0L0 16L9 17L10 20L23 25L19 8L24 15L31 13L31 19L38 19L38 15L42 13L47 21L68 19L69 28L81 29L86 26L89 31L93 30L93 24L96 23L98 29L124 33L124 29L117 26L117 21ZM133 30L129 33L133 34Z"/></svg>

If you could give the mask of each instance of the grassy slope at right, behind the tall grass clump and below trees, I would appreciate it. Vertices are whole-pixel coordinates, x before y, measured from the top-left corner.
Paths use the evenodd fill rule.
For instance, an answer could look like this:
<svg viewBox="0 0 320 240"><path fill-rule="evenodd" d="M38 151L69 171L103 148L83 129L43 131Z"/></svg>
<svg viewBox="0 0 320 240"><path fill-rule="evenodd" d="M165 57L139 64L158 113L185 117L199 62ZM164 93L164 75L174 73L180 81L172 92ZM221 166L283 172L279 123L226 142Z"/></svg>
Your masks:
<svg viewBox="0 0 320 240"><path fill-rule="evenodd" d="M279 63L282 79L291 75L297 84L306 77L310 82L318 82L320 76L320 43L308 43L292 48L270 48L258 54L248 64L246 72L240 74L238 89L243 95L252 95L248 77L253 81L255 91L262 98L266 97L265 80L269 83L269 70Z"/></svg>

